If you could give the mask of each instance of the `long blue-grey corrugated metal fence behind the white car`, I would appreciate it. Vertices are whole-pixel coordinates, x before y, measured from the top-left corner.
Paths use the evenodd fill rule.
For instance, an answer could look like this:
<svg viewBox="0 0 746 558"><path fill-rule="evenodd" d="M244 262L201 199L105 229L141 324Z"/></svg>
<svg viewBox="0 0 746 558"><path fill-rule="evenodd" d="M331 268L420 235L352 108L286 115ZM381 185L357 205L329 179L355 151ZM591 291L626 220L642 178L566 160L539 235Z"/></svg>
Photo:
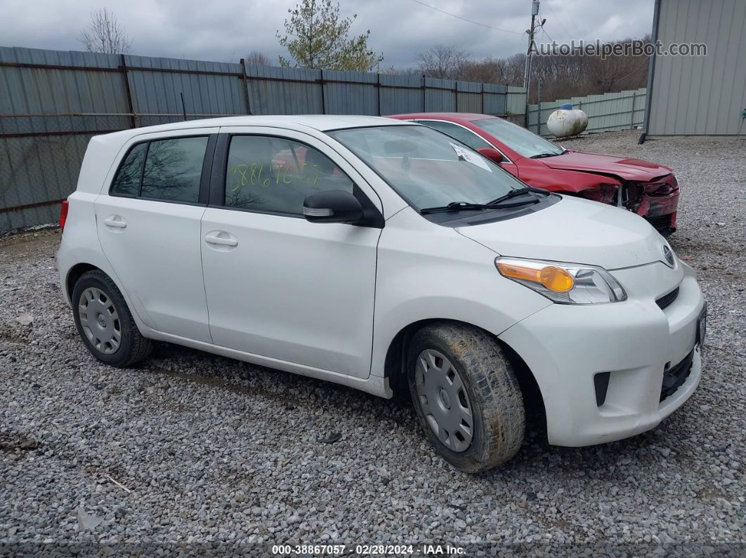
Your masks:
<svg viewBox="0 0 746 558"><path fill-rule="evenodd" d="M0 47L0 231L57 221L96 134L245 114L448 110L523 124L525 102L491 83Z"/></svg>

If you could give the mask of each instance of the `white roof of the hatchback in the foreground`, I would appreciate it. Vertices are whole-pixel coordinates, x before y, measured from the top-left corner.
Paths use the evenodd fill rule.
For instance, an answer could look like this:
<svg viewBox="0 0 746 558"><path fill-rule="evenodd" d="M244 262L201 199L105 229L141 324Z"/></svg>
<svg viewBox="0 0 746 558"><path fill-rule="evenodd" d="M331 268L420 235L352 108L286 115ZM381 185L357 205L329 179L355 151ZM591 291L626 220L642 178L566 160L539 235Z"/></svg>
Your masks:
<svg viewBox="0 0 746 558"><path fill-rule="evenodd" d="M204 118L201 120L187 120L131 128L119 132L98 136L98 139L110 139L113 142L126 142L134 136L144 133L171 132L176 130L192 130L195 128L216 128L229 126L266 126L280 127L288 130L304 130L312 128L320 132L367 126L391 126L404 124L391 118L381 116L353 116L353 115L277 115L277 116L226 116L223 118Z"/></svg>

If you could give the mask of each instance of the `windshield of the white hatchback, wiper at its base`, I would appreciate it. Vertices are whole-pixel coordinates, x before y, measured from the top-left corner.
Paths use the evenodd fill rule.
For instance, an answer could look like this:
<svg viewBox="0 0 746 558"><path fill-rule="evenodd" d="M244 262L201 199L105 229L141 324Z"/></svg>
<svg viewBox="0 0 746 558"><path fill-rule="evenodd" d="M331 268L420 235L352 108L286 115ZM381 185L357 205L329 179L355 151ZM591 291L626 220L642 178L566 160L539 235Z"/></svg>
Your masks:
<svg viewBox="0 0 746 558"><path fill-rule="evenodd" d="M426 126L379 126L328 132L415 209L489 203L524 183L456 139Z"/></svg>

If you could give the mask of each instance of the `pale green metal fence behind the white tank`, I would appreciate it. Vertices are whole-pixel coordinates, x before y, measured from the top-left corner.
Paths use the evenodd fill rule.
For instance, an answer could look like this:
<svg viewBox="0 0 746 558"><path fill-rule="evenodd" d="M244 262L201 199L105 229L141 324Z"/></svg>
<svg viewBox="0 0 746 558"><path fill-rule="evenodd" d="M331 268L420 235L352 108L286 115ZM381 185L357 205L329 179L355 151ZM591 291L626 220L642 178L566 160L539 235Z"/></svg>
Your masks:
<svg viewBox="0 0 746 558"><path fill-rule="evenodd" d="M610 130L630 130L642 126L645 118L646 89L620 91L618 93L604 93L603 95L588 95L587 97L573 97L558 99L542 103L541 129L536 118L538 105L528 106L528 129L542 136L548 136L547 118L552 112L565 103L571 103L576 109L582 109L588 115L586 132L608 132Z"/></svg>

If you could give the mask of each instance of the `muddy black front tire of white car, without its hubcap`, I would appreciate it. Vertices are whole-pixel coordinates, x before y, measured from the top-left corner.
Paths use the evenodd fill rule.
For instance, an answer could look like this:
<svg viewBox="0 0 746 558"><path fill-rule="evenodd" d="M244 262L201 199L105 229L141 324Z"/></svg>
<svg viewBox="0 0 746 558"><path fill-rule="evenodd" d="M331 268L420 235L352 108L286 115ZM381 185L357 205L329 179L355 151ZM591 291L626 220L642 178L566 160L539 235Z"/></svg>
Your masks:
<svg viewBox="0 0 746 558"><path fill-rule="evenodd" d="M453 451L427 421L417 393L416 366L427 349L442 353L455 367L471 405L471 445ZM521 448L525 410L518 380L498 341L481 329L461 323L434 323L417 332L407 354L407 383L427 440L463 472L481 472L510 460ZM450 407L449 407L450 408Z"/></svg>

